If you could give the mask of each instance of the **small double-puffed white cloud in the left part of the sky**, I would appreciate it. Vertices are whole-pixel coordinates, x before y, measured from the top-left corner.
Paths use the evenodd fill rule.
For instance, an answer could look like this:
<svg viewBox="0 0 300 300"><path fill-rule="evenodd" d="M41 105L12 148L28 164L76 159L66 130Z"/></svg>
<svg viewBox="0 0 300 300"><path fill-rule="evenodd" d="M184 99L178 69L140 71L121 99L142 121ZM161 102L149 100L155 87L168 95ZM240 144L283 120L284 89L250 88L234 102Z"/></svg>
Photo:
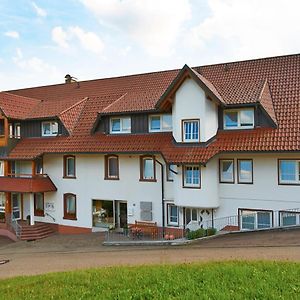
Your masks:
<svg viewBox="0 0 300 300"><path fill-rule="evenodd" d="M85 50L101 53L104 43L94 32L84 31L79 26L70 26L66 30L58 26L52 29L52 40L62 48L69 48L73 40L79 41Z"/></svg>

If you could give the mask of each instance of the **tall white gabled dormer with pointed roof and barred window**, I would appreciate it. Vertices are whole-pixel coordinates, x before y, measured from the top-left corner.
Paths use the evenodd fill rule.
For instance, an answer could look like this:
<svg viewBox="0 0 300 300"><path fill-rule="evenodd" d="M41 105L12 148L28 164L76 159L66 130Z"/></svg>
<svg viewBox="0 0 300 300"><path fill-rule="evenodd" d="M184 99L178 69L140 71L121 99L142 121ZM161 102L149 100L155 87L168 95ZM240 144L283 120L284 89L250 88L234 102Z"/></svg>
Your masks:
<svg viewBox="0 0 300 300"><path fill-rule="evenodd" d="M185 65L157 103L172 111L173 136L178 143L202 143L218 130L221 95L211 82Z"/></svg>

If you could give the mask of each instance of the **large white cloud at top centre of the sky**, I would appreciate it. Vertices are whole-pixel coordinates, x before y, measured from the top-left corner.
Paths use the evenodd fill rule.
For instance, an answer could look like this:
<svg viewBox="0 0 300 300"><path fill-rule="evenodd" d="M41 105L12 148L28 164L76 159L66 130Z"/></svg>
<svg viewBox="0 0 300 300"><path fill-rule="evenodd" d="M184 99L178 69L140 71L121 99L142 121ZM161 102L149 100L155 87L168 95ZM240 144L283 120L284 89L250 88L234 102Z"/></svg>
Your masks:
<svg viewBox="0 0 300 300"><path fill-rule="evenodd" d="M128 35L149 54L170 54L186 20L189 0L81 0L104 23Z"/></svg>

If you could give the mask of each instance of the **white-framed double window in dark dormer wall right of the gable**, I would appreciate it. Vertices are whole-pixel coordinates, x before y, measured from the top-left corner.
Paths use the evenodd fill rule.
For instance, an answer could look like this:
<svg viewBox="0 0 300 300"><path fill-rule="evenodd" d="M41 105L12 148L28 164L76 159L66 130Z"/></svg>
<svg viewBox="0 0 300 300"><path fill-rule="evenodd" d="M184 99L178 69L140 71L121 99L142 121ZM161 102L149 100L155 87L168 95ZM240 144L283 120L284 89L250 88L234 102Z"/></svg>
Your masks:
<svg viewBox="0 0 300 300"><path fill-rule="evenodd" d="M225 110L224 129L247 129L254 127L254 110Z"/></svg>

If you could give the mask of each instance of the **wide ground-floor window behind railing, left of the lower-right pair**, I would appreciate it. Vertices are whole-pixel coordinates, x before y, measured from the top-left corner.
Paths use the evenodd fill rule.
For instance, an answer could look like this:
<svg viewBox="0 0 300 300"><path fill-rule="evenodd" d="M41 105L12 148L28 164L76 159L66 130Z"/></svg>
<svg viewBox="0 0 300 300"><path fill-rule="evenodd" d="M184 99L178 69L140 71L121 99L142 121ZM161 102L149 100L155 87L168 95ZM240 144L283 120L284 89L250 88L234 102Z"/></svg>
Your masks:
<svg viewBox="0 0 300 300"><path fill-rule="evenodd" d="M272 211L239 209L241 229L255 230L272 227Z"/></svg>

